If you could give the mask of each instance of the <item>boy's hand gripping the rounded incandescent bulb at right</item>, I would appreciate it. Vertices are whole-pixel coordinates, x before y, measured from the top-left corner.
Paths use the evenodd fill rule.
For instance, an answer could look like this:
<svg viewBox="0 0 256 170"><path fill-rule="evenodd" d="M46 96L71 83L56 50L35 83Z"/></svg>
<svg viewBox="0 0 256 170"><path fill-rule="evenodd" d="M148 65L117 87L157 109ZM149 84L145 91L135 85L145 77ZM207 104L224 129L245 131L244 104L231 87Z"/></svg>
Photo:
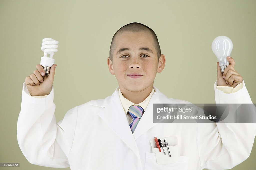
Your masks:
<svg viewBox="0 0 256 170"><path fill-rule="evenodd" d="M243 82L243 77L234 69L234 59L232 57L227 57L227 59L229 65L223 73L220 71L219 62L217 62L217 86L236 87L239 83Z"/></svg>

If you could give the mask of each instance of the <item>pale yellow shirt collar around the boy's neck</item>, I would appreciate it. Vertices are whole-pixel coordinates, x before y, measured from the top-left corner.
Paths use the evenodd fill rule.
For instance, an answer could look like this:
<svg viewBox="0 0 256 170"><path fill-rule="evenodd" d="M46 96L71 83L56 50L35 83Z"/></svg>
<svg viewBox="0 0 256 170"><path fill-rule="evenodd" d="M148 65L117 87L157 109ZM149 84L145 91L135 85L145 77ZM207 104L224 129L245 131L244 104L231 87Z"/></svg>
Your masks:
<svg viewBox="0 0 256 170"><path fill-rule="evenodd" d="M132 105L135 105L135 106L138 106L138 105L139 105L140 107L143 108L143 110L146 110L147 105L148 105L148 103L149 103L149 101L150 101L150 99L151 99L153 93L155 92L154 88L152 88L151 93L148 95L148 97L147 97L143 102L138 103L138 104L134 104L133 102L131 102L130 100L126 99L126 98L122 95L120 88L119 88L118 91L119 91L119 97L120 97L120 100L121 100L121 103L122 103L122 106L123 106L123 109L124 109L125 114L128 112L128 109L129 109L130 106L132 106Z"/></svg>

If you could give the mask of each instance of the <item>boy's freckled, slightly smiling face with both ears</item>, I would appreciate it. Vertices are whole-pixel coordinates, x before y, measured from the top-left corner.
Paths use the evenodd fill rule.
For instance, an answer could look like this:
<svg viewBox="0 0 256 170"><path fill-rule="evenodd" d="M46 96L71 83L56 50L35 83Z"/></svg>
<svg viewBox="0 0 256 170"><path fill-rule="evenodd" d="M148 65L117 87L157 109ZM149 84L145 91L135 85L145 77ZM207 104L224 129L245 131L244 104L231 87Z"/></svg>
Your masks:
<svg viewBox="0 0 256 170"><path fill-rule="evenodd" d="M113 62L108 58L108 66L120 89L136 92L153 87L156 72L165 64L163 54L158 61L154 45L148 32L125 31L116 36Z"/></svg>

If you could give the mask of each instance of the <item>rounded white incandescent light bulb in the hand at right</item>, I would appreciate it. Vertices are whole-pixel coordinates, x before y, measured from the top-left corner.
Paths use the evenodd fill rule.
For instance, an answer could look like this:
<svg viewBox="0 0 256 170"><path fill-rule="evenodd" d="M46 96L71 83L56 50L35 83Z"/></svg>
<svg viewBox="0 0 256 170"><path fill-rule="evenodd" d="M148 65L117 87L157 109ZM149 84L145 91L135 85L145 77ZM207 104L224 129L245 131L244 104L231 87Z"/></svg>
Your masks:
<svg viewBox="0 0 256 170"><path fill-rule="evenodd" d="M220 65L220 71L223 73L225 68L229 65L227 57L230 56L233 43L227 36L218 36L213 40L211 49L216 55Z"/></svg>

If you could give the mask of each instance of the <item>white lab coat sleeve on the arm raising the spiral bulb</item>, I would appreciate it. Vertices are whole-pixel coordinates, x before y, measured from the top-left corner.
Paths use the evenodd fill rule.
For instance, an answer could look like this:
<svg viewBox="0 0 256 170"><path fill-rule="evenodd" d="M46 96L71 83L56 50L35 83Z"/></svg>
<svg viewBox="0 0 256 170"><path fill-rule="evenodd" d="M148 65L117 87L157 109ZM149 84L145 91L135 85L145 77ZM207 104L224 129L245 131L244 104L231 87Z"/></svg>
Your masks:
<svg viewBox="0 0 256 170"><path fill-rule="evenodd" d="M17 140L22 153L31 164L70 167L68 155L72 147L78 106L70 109L64 119L56 124L53 86L45 98L35 98L28 93L23 83L17 122Z"/></svg>

